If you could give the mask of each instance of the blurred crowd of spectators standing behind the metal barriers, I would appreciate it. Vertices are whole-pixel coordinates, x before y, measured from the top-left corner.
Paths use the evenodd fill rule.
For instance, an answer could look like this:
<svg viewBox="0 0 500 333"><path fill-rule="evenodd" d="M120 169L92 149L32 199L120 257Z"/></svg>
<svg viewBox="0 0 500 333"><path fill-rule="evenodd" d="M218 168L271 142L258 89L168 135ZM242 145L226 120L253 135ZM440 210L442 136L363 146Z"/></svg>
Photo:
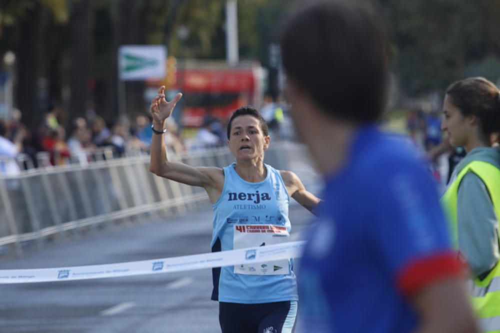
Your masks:
<svg viewBox="0 0 500 333"><path fill-rule="evenodd" d="M261 112L273 139L292 139L287 114L289 106L276 103L266 96ZM286 111L283 111L286 110ZM0 137L15 146L17 166L0 168L0 172L16 174L21 169L58 166L65 164L86 165L88 162L109 158L100 156L103 148L120 158L137 153L148 153L153 135L151 117L146 111L134 118L120 117L106 122L94 113L78 117L69 126L61 123L63 109L59 103L50 103L42 122L30 129L22 121L22 113L14 108L10 119L0 119ZM205 114L194 136L183 136L174 118L169 118L164 135L166 149L173 154L218 148L225 145L226 118ZM7 155L0 145L0 156ZM22 157L19 159L19 157Z"/></svg>

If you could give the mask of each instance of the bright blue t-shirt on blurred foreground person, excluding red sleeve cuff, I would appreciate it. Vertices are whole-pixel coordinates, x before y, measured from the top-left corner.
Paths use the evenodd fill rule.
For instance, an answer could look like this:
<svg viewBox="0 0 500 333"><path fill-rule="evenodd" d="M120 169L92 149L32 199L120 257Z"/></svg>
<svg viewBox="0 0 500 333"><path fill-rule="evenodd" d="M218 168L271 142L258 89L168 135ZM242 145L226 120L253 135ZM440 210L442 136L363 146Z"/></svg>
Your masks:
<svg viewBox="0 0 500 333"><path fill-rule="evenodd" d="M413 332L398 279L415 260L449 251L423 162L395 135L365 126L325 185L298 272L302 331Z"/></svg>

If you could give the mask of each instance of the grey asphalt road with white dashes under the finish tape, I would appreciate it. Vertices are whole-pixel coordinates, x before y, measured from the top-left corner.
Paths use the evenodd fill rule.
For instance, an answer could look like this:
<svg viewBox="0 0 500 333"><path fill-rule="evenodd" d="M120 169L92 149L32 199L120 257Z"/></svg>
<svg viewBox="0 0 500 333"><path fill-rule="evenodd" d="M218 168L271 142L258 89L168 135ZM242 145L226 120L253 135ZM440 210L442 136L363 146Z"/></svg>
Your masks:
<svg viewBox="0 0 500 333"><path fill-rule="evenodd" d="M208 207L208 205L207 205ZM110 264L209 252L210 210L58 239L1 269ZM311 214L290 206L292 240ZM0 285L1 333L220 332L211 271Z"/></svg>

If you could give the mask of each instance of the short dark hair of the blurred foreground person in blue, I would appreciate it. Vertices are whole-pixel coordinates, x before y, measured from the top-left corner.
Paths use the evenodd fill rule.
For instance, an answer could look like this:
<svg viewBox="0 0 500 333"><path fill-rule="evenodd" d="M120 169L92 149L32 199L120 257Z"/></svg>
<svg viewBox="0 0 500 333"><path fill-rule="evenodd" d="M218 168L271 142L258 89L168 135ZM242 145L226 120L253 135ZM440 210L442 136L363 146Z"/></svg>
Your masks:
<svg viewBox="0 0 500 333"><path fill-rule="evenodd" d="M371 122L387 93L383 21L356 1L321 1L302 7L281 32L286 75L329 116Z"/></svg>

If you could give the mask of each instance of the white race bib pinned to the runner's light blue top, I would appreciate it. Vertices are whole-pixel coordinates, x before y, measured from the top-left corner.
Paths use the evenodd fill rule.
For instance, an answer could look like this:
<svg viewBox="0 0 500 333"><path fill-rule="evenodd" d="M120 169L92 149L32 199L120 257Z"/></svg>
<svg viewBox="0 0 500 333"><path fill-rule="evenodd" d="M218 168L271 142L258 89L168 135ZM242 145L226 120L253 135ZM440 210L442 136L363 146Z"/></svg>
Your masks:
<svg viewBox="0 0 500 333"><path fill-rule="evenodd" d="M290 234L284 226L272 224L234 225L233 249L251 248L285 243ZM241 264L234 266L234 274L246 275L281 275L289 274L289 260L276 260L265 263Z"/></svg>

